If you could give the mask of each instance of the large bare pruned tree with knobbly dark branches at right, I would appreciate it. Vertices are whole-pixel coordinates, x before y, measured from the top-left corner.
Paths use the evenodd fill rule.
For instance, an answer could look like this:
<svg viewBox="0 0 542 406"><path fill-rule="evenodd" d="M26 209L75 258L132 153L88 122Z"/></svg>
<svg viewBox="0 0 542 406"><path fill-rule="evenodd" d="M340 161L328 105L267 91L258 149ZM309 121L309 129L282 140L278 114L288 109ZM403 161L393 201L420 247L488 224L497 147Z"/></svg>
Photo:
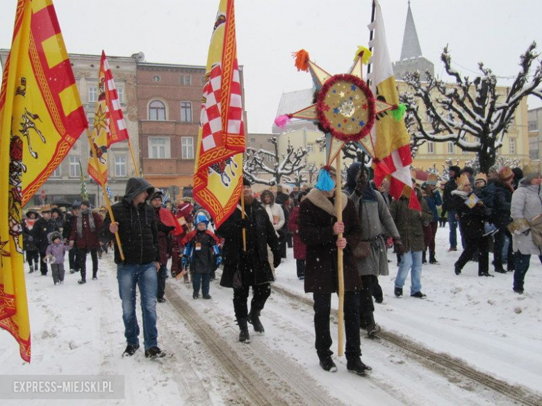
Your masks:
<svg viewBox="0 0 542 406"><path fill-rule="evenodd" d="M514 113L521 100L530 94L542 99L542 62L537 62L536 42L520 56L520 71L507 94L498 94L497 77L491 69L479 62L480 76L470 80L452 68L452 58L447 46L441 55L447 74L454 78L450 85L434 78L426 71L426 83L420 80L420 72L404 75L404 81L413 90L401 95L402 103L413 116L411 135L415 139L434 142L452 141L463 151L475 152L481 171L487 172L495 164L496 152L514 119ZM531 65L536 69L531 74ZM530 76L529 76L530 75ZM530 77L530 78L529 78ZM422 118L417 101L427 111ZM427 130L424 126L431 127ZM468 141L470 135L473 141ZM417 142L416 140L414 142Z"/></svg>

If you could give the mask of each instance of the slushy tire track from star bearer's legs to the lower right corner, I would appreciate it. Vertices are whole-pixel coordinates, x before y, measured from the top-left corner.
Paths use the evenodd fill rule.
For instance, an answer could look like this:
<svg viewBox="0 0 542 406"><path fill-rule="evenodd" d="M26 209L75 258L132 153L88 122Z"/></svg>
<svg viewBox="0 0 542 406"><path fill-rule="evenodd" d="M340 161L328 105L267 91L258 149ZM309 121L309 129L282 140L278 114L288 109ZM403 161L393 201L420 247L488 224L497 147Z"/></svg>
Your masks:
<svg viewBox="0 0 542 406"><path fill-rule="evenodd" d="M304 297L289 289L277 286L277 284L272 285L272 290L295 302L304 303L311 308L314 305L311 298ZM337 317L337 310L331 309L331 314ZM436 353L420 344L416 344L414 341L384 329L379 332L378 337L382 339L379 343L382 346L386 346L393 350L399 348L399 350L407 355L409 359L422 364L427 369L443 375L449 382L457 384L461 389L466 389L469 384L475 384L476 386L496 392L504 398L513 401L515 404L528 406L542 405L542 396L539 396L539 394L535 394L523 387L514 386L503 380L493 378L487 373L477 371L472 366L466 364L466 362L457 360L450 355ZM375 341L375 343L378 342L379 341ZM468 383L465 381L468 381ZM377 380L372 380L372 382L378 385Z"/></svg>

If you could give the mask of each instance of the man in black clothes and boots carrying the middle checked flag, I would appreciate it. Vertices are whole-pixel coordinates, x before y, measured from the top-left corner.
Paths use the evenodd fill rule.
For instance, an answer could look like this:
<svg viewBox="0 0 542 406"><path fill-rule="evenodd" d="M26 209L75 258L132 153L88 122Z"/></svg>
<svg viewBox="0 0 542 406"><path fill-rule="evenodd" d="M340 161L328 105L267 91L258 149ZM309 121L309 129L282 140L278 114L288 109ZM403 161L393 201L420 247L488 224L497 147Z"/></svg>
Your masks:
<svg viewBox="0 0 542 406"><path fill-rule="evenodd" d="M241 207L231 214L217 230L224 237L224 271L220 285L233 287L233 310L239 325L239 341L249 343L247 322L254 331L263 332L260 312L271 294L274 280L268 260L268 245L273 253L273 266L281 263L279 242L268 213L263 205L252 197L248 180L243 180L245 219L241 218ZM243 250L243 228L246 230L247 250ZM252 302L248 312L249 289L252 286Z"/></svg>

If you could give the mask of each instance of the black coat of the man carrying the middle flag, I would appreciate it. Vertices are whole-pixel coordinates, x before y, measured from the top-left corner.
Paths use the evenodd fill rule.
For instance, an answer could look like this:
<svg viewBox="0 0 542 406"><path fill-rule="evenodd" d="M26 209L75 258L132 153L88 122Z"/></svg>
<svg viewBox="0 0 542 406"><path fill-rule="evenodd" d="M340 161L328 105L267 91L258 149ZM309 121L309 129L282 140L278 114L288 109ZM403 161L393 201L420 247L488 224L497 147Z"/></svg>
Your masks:
<svg viewBox="0 0 542 406"><path fill-rule="evenodd" d="M220 285L224 287L233 287L233 274L238 269L243 272L244 285L252 285L252 278L246 275L247 269L252 269L255 285L274 280L268 260L268 245L275 257L280 257L280 252L277 235L268 213L256 200L252 202L252 208L247 206L245 211L247 212L248 253L243 253L243 232L239 223L241 220L239 208L217 230L217 235L224 238L222 250L224 271L220 279Z"/></svg>

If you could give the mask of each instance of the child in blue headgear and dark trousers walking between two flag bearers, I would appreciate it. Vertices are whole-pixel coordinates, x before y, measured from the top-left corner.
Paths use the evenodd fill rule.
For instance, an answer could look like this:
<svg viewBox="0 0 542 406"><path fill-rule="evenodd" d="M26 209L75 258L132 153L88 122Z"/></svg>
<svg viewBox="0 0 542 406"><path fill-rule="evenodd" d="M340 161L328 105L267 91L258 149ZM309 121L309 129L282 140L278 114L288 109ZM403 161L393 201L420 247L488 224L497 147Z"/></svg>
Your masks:
<svg viewBox="0 0 542 406"><path fill-rule="evenodd" d="M199 287L201 286L203 298L211 299L209 280L215 266L222 262L218 248L220 239L213 232L207 230L209 220L202 212L197 215L194 223L196 229L190 231L181 242L181 245L184 246L183 267L186 268L188 261L190 261L192 287L194 288L192 298L199 298Z"/></svg>

